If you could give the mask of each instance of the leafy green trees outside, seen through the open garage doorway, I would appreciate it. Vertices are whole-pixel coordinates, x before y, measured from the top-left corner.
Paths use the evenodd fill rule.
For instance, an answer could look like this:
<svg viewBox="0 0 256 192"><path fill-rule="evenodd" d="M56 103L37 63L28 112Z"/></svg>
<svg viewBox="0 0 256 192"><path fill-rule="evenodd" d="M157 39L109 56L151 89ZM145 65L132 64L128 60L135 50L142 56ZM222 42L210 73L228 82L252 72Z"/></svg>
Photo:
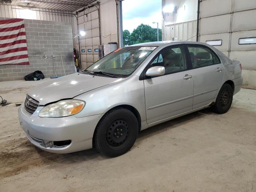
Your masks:
<svg viewBox="0 0 256 192"><path fill-rule="evenodd" d="M130 34L128 30L123 32L124 45L157 41L157 28L140 24ZM162 41L162 30L159 29L159 41Z"/></svg>

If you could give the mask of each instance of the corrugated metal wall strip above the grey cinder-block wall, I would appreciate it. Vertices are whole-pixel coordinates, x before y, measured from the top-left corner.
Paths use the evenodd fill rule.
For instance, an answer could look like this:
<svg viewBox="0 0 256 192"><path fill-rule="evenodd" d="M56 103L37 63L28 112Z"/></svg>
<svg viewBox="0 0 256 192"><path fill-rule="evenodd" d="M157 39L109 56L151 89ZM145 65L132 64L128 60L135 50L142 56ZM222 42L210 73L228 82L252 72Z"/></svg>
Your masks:
<svg viewBox="0 0 256 192"><path fill-rule="evenodd" d="M0 5L0 17L3 18L22 18L20 14L20 7L10 6L10 5ZM60 21L60 22L71 22L72 15L65 14L71 13L67 11L57 11L44 8L32 8L36 12L36 20L45 20L45 21ZM55 12L55 13L52 13Z"/></svg>

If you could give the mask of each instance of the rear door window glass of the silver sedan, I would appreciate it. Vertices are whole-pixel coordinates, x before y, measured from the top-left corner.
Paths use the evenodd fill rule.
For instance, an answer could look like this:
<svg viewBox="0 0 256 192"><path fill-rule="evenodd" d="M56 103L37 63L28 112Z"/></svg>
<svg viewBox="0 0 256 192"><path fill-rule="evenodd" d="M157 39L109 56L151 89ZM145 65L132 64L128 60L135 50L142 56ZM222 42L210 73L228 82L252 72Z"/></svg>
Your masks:
<svg viewBox="0 0 256 192"><path fill-rule="evenodd" d="M190 54L192 68L205 67L220 63L215 54L212 55L212 51L203 46L188 46Z"/></svg>

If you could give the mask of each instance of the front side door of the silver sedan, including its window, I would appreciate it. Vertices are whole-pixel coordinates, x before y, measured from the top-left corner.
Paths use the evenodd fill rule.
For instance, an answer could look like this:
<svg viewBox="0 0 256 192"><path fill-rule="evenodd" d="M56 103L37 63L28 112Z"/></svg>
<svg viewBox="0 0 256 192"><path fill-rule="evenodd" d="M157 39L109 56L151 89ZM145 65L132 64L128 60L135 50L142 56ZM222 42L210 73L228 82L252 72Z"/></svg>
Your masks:
<svg viewBox="0 0 256 192"><path fill-rule="evenodd" d="M183 45L162 49L150 62L164 66L165 74L144 79L147 124L192 110L194 81Z"/></svg>

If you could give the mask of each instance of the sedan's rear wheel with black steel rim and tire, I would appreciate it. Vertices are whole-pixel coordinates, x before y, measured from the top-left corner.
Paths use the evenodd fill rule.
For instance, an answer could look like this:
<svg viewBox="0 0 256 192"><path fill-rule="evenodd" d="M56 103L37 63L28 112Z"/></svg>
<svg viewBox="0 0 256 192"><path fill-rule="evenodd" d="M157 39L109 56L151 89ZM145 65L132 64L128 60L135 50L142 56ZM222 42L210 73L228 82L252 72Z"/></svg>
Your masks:
<svg viewBox="0 0 256 192"><path fill-rule="evenodd" d="M222 88L220 88L220 92L218 93L212 110L218 114L224 114L230 109L232 100L233 89L229 84L224 84Z"/></svg>

